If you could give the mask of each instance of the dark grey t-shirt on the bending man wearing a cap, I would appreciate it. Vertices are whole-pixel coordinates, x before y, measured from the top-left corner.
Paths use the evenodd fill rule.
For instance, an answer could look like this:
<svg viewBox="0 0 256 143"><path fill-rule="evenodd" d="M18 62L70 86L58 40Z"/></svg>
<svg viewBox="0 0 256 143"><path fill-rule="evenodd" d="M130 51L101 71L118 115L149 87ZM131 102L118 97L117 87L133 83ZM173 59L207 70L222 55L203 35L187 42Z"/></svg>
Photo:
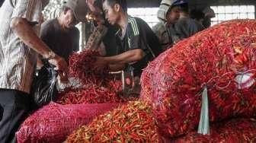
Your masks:
<svg viewBox="0 0 256 143"><path fill-rule="evenodd" d="M79 50L79 30L74 27L68 31L62 30L57 18L42 24L40 37L50 49L68 62L72 52Z"/></svg>

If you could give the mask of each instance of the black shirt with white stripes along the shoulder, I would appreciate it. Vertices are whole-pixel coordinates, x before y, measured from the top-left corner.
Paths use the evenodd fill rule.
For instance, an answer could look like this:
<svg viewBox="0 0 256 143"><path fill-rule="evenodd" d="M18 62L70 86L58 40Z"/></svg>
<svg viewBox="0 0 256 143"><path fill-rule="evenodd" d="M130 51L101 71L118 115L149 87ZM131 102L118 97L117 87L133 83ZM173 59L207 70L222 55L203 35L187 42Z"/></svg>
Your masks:
<svg viewBox="0 0 256 143"><path fill-rule="evenodd" d="M119 53L127 52L131 49L142 49L145 53L143 59L136 63L130 64L134 75L141 75L142 69L146 68L149 61L158 56L162 52L161 44L155 33L148 24L139 17L128 17L128 24L123 37L118 34L117 44L119 45Z"/></svg>

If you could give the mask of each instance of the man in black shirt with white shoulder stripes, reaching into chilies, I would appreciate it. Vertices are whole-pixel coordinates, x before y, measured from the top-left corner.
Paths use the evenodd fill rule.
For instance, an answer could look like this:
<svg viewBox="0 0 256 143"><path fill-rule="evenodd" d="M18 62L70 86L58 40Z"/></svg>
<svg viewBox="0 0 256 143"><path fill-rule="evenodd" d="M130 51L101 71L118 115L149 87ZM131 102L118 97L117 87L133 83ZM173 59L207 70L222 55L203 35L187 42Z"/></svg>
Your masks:
<svg viewBox="0 0 256 143"><path fill-rule="evenodd" d="M95 66L102 68L110 65L113 71L126 68L134 75L134 81L139 82L142 69L162 52L161 44L145 21L127 14L126 0L105 0L103 9L107 21L120 28L117 32L120 54L98 57Z"/></svg>

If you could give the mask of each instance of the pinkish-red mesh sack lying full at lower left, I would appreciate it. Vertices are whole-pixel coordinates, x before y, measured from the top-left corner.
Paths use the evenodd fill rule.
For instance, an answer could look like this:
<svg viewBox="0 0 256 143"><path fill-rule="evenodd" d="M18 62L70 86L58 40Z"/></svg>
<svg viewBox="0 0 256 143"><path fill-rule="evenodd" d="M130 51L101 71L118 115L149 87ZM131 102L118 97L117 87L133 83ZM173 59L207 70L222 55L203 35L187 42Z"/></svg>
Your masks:
<svg viewBox="0 0 256 143"><path fill-rule="evenodd" d="M59 105L50 103L28 117L16 133L19 143L63 142L75 129L114 109L117 103Z"/></svg>

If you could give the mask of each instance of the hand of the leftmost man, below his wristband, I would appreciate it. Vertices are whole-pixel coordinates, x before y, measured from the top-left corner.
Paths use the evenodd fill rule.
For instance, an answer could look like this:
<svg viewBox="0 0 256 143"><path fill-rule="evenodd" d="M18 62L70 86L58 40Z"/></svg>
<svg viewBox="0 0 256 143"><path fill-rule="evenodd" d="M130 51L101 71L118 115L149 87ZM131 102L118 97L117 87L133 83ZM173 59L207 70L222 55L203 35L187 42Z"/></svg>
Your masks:
<svg viewBox="0 0 256 143"><path fill-rule="evenodd" d="M58 71L58 75L62 82L69 81L67 78L68 64L66 63L65 59L62 59L62 57L56 55L53 57L53 59L50 59L49 62L51 65L55 66L54 69Z"/></svg>

